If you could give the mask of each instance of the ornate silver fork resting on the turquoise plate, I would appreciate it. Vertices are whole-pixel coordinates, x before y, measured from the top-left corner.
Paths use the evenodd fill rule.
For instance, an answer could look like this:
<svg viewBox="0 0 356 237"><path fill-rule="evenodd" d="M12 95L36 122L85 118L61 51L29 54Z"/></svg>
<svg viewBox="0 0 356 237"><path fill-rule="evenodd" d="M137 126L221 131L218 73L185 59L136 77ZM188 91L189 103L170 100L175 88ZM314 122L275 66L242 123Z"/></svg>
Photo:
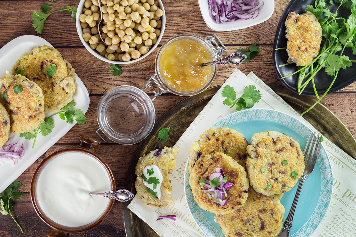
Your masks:
<svg viewBox="0 0 356 237"><path fill-rule="evenodd" d="M313 135L313 137L312 137L312 135ZM311 174L313 172L313 169L314 169L315 163L316 163L316 159L318 158L318 154L320 151L321 142L319 141L319 134L316 136L316 139L315 139L315 136L316 136L316 133L311 133L309 135L307 145L305 145L305 147L304 147L304 151L303 151L304 154L305 154L305 151L307 151L307 148L309 147L308 153L307 153L307 155L305 155L305 160L304 160L304 163L305 163L304 173L300 177L297 193L295 193L292 207L290 208L289 214L283 223L282 231L279 233L279 235L277 237L289 237L289 231L293 225L293 216L294 216L295 207L297 206L297 202L299 199L300 192L302 191L302 187L303 187L305 178L307 178L309 176L309 174ZM312 141L310 141L310 138L312 138ZM314 139L315 139L315 143L314 143ZM314 146L313 146L313 143L314 143ZM312 150L312 146L313 146L313 150ZM312 153L310 153L310 150L312 150Z"/></svg>

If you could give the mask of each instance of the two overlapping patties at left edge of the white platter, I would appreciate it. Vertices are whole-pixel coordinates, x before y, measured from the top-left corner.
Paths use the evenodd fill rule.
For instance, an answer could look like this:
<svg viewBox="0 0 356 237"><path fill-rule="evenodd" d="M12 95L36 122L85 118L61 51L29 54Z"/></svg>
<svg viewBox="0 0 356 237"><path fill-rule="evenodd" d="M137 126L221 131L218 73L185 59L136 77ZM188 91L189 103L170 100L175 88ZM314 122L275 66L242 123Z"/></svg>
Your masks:
<svg viewBox="0 0 356 237"><path fill-rule="evenodd" d="M20 74L6 73L1 78L0 85L0 94L2 95L0 102L8 113L7 117L3 109L0 108L3 120L1 121L1 131L5 132L4 139L1 136L0 145L4 145L9 139L9 131L25 133L36 129L46 115L43 108L42 90L35 82Z"/></svg>

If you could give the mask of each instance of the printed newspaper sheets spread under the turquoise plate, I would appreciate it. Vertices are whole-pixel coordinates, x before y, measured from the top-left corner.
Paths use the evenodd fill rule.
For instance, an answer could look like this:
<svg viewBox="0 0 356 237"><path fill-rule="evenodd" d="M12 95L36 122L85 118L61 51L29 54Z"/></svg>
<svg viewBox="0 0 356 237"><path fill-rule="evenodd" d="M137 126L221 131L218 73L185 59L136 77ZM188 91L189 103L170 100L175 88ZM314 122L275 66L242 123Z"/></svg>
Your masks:
<svg viewBox="0 0 356 237"><path fill-rule="evenodd" d="M209 129L219 119L235 112L234 108L223 105L225 99L221 96L223 87L230 85L235 88L237 95L242 95L244 87L251 84L255 85L262 95L260 101L253 108L274 109L287 113L315 131L304 118L255 74L251 72L246 76L238 69L235 69L175 145L180 150L176 155L177 169L171 175L172 197L175 204L168 208L152 209L148 208L138 196L135 196L128 206L132 212L151 226L159 236L206 236L191 216L184 195L184 173L188 151L201 133ZM356 178L356 161L327 139L324 139L323 144L331 160L334 187L327 214L312 236L356 236L356 227L354 225L356 219L356 182L351 182L352 179ZM177 220L162 219L156 221L157 217L161 215L176 215Z"/></svg>

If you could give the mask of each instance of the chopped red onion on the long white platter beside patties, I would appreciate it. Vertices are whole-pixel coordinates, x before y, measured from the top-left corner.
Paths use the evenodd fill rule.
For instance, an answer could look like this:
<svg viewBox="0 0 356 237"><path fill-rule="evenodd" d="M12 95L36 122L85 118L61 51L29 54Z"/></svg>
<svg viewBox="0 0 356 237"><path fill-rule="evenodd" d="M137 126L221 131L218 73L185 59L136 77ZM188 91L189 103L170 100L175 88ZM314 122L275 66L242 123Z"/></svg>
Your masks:
<svg viewBox="0 0 356 237"><path fill-rule="evenodd" d="M12 166L15 166L23 156L23 151L22 142L15 142L11 145L4 145L0 147L0 165L12 161Z"/></svg>

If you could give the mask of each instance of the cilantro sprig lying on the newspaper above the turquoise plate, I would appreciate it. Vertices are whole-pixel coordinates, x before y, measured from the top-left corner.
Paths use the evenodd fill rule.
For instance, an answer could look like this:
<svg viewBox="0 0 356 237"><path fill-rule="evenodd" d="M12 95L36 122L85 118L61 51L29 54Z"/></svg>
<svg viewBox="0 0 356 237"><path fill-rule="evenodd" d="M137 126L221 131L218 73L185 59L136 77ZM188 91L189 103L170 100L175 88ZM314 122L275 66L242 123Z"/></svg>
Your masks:
<svg viewBox="0 0 356 237"><path fill-rule="evenodd" d="M230 85L224 86L221 95L226 98L223 103L230 108L235 106L236 111L252 108L261 98L260 91L253 85L246 86L242 96L237 99L236 91Z"/></svg>

